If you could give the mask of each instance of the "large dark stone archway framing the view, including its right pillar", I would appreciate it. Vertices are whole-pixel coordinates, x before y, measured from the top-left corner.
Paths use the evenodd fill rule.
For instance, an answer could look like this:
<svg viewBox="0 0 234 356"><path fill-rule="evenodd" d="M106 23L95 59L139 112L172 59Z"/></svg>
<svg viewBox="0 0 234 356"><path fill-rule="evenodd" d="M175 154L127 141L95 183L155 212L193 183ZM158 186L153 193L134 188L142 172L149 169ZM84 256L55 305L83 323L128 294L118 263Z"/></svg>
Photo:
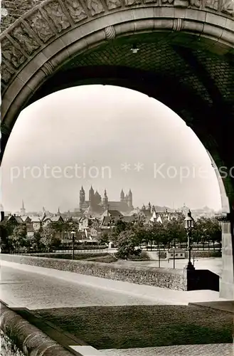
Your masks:
<svg viewBox="0 0 234 356"><path fill-rule="evenodd" d="M168 105L193 128L218 168L225 166L230 172L234 166L233 14L231 0L42 1L0 36L1 157L14 122L29 103L70 85L112 83ZM130 52L134 43L139 43L144 56ZM230 214L228 230L224 228L228 232L223 258L228 265L222 295L234 298L234 179L230 175L223 179Z"/></svg>

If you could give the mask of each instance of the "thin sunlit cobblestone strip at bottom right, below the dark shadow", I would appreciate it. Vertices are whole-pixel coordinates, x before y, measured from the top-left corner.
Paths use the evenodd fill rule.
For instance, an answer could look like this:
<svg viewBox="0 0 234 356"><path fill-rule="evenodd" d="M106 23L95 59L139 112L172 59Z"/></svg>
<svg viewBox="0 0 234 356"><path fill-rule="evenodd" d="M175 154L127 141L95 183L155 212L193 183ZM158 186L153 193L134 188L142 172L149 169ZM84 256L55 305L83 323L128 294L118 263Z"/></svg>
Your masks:
<svg viewBox="0 0 234 356"><path fill-rule="evenodd" d="M103 356L233 356L233 344L176 345L125 350L100 350Z"/></svg>

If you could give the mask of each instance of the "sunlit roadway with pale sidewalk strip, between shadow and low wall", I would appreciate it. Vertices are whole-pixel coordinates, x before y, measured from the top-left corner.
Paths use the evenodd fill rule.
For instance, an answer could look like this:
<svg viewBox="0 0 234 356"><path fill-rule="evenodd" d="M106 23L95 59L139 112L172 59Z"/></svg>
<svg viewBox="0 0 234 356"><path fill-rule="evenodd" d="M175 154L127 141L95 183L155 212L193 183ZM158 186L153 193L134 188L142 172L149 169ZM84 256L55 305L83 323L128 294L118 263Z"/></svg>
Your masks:
<svg viewBox="0 0 234 356"><path fill-rule="evenodd" d="M224 300L214 290L172 290L8 261L1 261L1 298L9 305L25 305L29 309L81 305L188 305Z"/></svg>

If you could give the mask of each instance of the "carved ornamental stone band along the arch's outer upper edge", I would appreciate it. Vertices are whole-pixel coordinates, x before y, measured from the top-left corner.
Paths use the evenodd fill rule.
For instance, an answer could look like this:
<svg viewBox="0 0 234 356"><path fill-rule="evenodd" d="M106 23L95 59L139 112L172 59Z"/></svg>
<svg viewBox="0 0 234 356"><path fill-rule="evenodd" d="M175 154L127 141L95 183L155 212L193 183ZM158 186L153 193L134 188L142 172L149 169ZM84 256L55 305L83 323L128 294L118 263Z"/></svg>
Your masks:
<svg viewBox="0 0 234 356"><path fill-rule="evenodd" d="M65 33L68 33L68 36L64 37L63 41L65 46L68 46L68 39L74 28L79 28L80 35L87 36L87 28L92 32L139 19L176 18L172 31L201 32L204 23L204 33L212 33L216 38L220 38L227 19L233 26L233 11L228 1L220 0L219 6L216 0L42 1L0 36L4 91L34 56L43 51L43 48L53 46L52 43ZM184 19L185 23L181 19ZM156 23L156 28L169 29L168 26L164 27L164 21L161 25L159 22ZM145 30L144 21L136 23L137 28L134 31L139 31L140 28ZM84 26L85 24L88 26ZM107 34L107 39L110 40L110 34ZM73 38L70 41L73 41Z"/></svg>

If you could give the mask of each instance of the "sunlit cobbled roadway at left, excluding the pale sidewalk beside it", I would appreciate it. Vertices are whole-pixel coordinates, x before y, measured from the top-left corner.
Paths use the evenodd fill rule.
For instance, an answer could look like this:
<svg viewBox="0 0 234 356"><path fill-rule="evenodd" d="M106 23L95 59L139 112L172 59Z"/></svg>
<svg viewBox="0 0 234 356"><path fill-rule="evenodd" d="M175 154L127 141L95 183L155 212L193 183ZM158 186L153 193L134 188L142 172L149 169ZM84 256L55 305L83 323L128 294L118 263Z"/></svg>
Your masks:
<svg viewBox="0 0 234 356"><path fill-rule="evenodd" d="M30 268L21 271L1 265L1 300L28 309L156 304L155 300L32 273Z"/></svg>

